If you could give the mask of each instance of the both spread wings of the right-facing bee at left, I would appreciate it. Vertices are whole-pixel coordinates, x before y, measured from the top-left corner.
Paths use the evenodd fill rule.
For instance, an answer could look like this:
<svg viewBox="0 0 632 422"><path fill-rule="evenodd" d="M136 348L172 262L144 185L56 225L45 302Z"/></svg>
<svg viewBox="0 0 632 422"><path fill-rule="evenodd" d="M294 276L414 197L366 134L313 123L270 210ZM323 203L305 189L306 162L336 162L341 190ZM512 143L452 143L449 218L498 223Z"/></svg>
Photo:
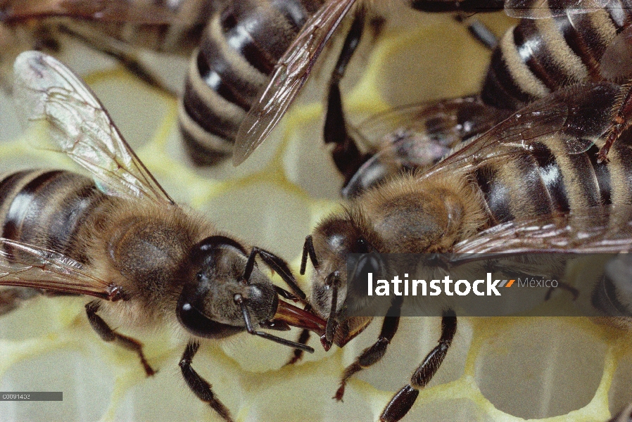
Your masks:
<svg viewBox="0 0 632 422"><path fill-rule="evenodd" d="M65 153L89 170L108 195L175 206L77 75L38 51L20 54L14 71L20 114L29 124L48 126L58 146L53 151ZM0 286L122 298L118 286L91 275L72 258L6 238L0 238Z"/></svg>

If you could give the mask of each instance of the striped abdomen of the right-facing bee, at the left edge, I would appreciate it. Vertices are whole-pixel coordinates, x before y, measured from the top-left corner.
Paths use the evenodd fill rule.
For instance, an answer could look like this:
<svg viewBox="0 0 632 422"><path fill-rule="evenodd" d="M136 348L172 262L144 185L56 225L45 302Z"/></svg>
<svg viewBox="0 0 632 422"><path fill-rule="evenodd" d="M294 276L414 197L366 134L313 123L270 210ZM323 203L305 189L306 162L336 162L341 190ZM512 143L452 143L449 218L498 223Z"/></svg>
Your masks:
<svg viewBox="0 0 632 422"><path fill-rule="evenodd" d="M63 170L5 174L0 181L2 237L77 258L77 231L103 198L91 179Z"/></svg>

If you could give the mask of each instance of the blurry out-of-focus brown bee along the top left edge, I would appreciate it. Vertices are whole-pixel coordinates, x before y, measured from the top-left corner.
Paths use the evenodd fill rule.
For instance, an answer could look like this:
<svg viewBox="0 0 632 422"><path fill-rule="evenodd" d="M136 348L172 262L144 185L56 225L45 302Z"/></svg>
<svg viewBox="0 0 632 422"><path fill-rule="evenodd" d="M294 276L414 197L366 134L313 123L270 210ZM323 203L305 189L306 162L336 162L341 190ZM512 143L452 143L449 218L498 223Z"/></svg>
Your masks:
<svg viewBox="0 0 632 422"><path fill-rule="evenodd" d="M9 0L0 5L2 61L8 65L26 49L58 53L63 34L117 59L133 75L175 94L139 58L139 49L190 56L217 0ZM17 52L14 52L17 51ZM2 75L11 91L11 72Z"/></svg>

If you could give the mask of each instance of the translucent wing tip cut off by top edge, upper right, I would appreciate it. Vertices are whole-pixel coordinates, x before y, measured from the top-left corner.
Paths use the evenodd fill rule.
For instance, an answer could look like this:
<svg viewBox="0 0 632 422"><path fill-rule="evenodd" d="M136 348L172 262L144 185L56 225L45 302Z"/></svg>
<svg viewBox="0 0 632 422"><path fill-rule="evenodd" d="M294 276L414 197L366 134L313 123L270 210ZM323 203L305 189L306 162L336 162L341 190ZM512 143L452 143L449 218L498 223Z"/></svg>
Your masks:
<svg viewBox="0 0 632 422"><path fill-rule="evenodd" d="M594 12L611 2L612 0L505 0L505 13L513 18L545 19Z"/></svg>

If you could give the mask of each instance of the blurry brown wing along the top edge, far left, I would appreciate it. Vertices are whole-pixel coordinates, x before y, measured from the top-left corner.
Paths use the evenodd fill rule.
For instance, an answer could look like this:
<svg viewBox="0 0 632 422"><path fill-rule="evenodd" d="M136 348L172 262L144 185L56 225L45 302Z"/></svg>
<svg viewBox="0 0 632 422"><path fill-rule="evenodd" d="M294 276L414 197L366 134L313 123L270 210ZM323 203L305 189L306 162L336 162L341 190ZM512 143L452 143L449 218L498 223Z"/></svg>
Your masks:
<svg viewBox="0 0 632 422"><path fill-rule="evenodd" d="M182 3L182 1L180 2ZM0 21L14 23L21 20L68 16L101 22L168 25L187 22L175 8L133 0L8 0L0 4Z"/></svg>

